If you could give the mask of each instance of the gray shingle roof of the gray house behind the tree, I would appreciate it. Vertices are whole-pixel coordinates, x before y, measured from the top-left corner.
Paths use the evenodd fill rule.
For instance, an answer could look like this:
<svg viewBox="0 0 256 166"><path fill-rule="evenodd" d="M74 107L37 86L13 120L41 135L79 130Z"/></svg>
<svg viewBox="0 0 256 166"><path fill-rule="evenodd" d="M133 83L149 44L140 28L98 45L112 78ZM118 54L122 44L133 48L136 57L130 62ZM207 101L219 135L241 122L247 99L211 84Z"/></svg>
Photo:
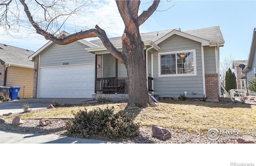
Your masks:
<svg viewBox="0 0 256 166"><path fill-rule="evenodd" d="M167 35L174 29L168 29L163 31L155 31L155 32L148 32L148 33L141 33L142 41L157 41L158 39L162 38L163 36ZM177 31L180 31L180 28L176 28ZM219 26L215 27L208 27L208 28L202 28L202 29L194 29L189 31L182 31L184 33L187 33L189 35L193 35L196 37L200 37L202 39L206 39L211 42L224 42L222 33L220 31ZM158 34L158 35L157 35ZM121 37L112 37L110 38L110 41L114 45L122 45ZM92 40L91 43L94 43L100 47L103 47L101 40Z"/></svg>

